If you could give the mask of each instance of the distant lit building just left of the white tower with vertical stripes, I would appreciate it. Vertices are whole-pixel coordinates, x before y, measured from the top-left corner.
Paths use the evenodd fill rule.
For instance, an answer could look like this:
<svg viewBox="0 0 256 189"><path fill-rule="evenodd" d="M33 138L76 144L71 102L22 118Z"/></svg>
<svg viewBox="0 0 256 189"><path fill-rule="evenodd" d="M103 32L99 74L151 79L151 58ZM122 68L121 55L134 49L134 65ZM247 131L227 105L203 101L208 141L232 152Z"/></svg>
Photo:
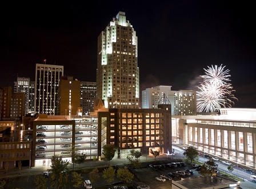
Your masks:
<svg viewBox="0 0 256 189"><path fill-rule="evenodd" d="M25 93L25 114L29 113L30 78L17 77L14 82L14 93Z"/></svg>

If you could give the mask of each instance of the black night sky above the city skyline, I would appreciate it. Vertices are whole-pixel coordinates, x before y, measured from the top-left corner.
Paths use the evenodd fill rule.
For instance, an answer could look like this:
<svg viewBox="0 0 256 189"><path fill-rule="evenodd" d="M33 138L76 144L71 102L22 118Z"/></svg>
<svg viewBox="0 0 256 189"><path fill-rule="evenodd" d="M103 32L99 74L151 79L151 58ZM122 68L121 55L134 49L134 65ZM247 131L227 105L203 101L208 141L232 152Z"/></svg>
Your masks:
<svg viewBox="0 0 256 189"><path fill-rule="evenodd" d="M197 90L203 69L222 65L230 70L234 107L256 108L253 1L79 2L1 5L0 86L13 86L17 75L34 81L43 59L96 82L98 35L124 11L138 36L141 90Z"/></svg>

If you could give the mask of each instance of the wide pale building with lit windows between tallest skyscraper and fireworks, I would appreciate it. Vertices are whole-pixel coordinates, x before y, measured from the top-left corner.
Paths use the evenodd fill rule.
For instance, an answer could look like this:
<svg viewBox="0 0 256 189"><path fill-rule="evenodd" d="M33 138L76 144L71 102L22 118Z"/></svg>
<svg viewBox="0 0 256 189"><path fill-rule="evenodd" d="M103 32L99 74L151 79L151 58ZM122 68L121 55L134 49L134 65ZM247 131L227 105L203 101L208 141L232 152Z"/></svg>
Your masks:
<svg viewBox="0 0 256 189"><path fill-rule="evenodd" d="M171 86L156 86L142 91L142 108L157 108L162 97L171 103L172 115L197 115L196 91L172 91Z"/></svg>

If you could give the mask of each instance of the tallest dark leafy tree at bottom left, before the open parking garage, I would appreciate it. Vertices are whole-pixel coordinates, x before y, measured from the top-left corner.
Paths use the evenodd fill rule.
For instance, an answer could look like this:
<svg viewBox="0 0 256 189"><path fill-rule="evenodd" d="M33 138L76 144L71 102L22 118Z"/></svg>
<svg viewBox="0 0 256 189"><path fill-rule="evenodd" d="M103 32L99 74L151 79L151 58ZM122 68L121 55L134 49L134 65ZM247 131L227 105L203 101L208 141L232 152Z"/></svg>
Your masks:
<svg viewBox="0 0 256 189"><path fill-rule="evenodd" d="M66 187L69 182L67 175L68 165L69 160L62 160L62 156L53 156L51 158L51 169L49 171L52 172L50 182L53 188Z"/></svg>

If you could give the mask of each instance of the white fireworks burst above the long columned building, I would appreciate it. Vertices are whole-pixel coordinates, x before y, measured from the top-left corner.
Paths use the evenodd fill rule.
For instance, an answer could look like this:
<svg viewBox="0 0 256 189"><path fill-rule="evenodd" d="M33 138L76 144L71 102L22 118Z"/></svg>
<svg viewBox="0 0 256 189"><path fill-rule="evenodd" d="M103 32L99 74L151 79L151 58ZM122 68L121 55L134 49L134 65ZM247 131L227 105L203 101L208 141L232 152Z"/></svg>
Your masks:
<svg viewBox="0 0 256 189"><path fill-rule="evenodd" d="M203 82L198 87L197 108L199 112L213 112L215 108L232 107L233 100L237 100L232 94L234 92L230 81L229 70L225 66L209 67L205 70L206 75L201 75Z"/></svg>

